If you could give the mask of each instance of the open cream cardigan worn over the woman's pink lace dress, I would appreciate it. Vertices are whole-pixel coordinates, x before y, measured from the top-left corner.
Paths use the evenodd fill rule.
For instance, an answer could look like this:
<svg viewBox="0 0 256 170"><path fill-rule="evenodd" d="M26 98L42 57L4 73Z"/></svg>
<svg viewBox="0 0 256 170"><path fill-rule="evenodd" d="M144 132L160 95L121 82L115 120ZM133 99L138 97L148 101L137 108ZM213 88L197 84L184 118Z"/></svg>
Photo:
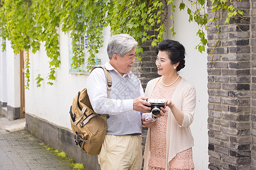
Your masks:
<svg viewBox="0 0 256 170"><path fill-rule="evenodd" d="M147 83L145 90L145 96L150 97L152 91L159 78L150 80ZM174 156L194 145L194 139L192 137L189 125L193 122L193 116L196 108L196 90L192 84L188 83L185 79L181 79L177 85L174 95L172 96L172 102L177 108L180 108L184 113L184 120L182 126L180 126L169 109L167 119L167 133L166 133L166 170L169 168L169 162ZM144 151L144 170L147 169L149 152L150 152L150 128L147 131L147 140Z"/></svg>

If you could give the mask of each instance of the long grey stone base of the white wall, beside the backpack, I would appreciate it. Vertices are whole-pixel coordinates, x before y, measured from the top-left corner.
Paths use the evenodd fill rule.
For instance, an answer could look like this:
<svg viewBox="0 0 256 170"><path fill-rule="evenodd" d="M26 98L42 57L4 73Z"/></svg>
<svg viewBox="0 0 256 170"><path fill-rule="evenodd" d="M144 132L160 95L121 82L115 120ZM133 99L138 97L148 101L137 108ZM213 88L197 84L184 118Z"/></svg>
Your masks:
<svg viewBox="0 0 256 170"><path fill-rule="evenodd" d="M71 130L62 128L47 120L26 113L26 130L59 151L72 156L75 162L84 164L85 169L100 170L98 156L88 156L74 143Z"/></svg>

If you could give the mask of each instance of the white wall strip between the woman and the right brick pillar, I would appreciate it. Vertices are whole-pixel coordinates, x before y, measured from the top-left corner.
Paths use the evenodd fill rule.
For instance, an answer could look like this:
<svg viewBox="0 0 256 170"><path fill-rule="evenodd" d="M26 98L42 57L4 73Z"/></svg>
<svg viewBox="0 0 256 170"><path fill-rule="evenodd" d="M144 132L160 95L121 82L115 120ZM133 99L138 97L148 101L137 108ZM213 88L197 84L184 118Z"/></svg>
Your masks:
<svg viewBox="0 0 256 170"><path fill-rule="evenodd" d="M184 2L186 3L186 1ZM179 4L180 1L175 1L176 7L179 7ZM170 8L171 7L169 7L169 9ZM169 14L170 13L169 11ZM204 52L201 54L195 49L196 45L200 42L199 37L196 36L199 26L196 23L189 23L188 17L187 11L179 11L179 9L176 8L176 12L174 13L176 35L171 37L170 31L168 31L167 37L168 39L179 41L184 45L186 51L185 67L180 70L180 75L196 88L196 112L191 125L191 131L195 140L193 160L195 169L199 170L208 169L207 53ZM168 23L168 27L171 27L171 23ZM207 37L206 32L205 37Z"/></svg>

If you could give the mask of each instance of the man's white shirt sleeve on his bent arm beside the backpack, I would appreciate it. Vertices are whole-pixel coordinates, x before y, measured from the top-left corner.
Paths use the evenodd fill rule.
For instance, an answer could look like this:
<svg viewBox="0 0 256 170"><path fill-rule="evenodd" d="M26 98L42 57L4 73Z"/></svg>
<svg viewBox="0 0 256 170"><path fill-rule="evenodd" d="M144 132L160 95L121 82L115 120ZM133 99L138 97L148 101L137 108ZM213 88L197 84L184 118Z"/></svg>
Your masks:
<svg viewBox="0 0 256 170"><path fill-rule="evenodd" d="M87 79L87 92L93 110L98 114L114 115L133 110L133 99L108 99L106 76L101 68L96 68L90 73Z"/></svg>

